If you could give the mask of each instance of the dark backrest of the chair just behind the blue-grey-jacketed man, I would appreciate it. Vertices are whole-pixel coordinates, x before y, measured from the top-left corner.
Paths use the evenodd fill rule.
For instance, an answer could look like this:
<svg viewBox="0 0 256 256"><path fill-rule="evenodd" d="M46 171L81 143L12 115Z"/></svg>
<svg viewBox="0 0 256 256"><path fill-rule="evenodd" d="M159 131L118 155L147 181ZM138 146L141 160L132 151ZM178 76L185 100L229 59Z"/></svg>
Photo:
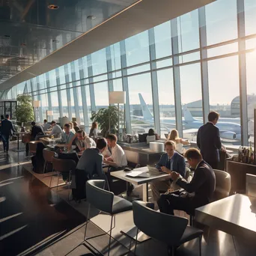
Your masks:
<svg viewBox="0 0 256 256"><path fill-rule="evenodd" d="M88 180L86 183L87 201L105 213L112 214L114 193L104 190L105 180Z"/></svg>

